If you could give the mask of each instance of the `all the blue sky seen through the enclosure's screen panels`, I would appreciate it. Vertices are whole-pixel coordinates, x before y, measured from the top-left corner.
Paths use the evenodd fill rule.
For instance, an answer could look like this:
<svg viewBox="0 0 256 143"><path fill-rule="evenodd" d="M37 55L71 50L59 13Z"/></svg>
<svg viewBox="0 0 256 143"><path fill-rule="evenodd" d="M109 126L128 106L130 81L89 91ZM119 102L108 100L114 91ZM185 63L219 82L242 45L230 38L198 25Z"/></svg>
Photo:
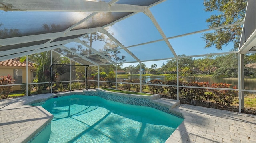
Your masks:
<svg viewBox="0 0 256 143"><path fill-rule="evenodd" d="M186 34L194 31L208 29L206 19L217 12L205 12L203 0L166 0L156 6L150 8L150 12L156 19L160 28L166 37L174 37L181 34ZM22 30L36 31L38 28L42 30L44 23L56 23L62 26L69 27L68 22L78 22L89 15L88 12L20 12L22 15L17 15L16 12L4 12L1 10L1 22L4 22L0 28L17 28ZM40 17L38 16L40 15ZM10 18L12 16L12 18ZM53 20L53 21L52 21ZM29 22L28 22L29 21ZM6 23L7 22L7 23ZM29 25L29 24L32 25ZM22 26L20 26L22 25ZM22 29L23 28L23 29ZM150 61L156 59L170 59L174 54L164 41L147 43L162 39L158 29L156 29L150 18L140 12L121 20L114 25L106 28L107 31L113 33L114 37L127 47L138 59L146 64L146 67L151 67L156 64L160 68L166 60ZM212 31L208 31L212 32ZM224 47L222 50L216 50L214 47L205 49L205 41L202 39L202 33L178 37L168 40L174 49L176 55L202 55L207 53L228 52L232 49L232 43ZM138 45L147 43L144 45ZM69 47L75 47L72 43ZM97 41L92 44L96 50L102 49L104 43ZM120 50L118 56L125 56L126 62L136 62L131 55L125 50ZM112 59L114 61L114 59ZM139 63L123 64L123 67L129 65L138 65Z"/></svg>

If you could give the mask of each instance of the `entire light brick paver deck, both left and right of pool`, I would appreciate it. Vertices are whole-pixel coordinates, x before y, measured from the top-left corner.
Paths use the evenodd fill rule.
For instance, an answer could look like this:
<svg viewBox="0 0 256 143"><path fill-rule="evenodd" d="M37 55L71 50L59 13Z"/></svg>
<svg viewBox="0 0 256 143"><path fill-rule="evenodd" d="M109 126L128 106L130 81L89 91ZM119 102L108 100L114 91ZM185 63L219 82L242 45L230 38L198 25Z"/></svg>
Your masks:
<svg viewBox="0 0 256 143"><path fill-rule="evenodd" d="M52 95L0 100L0 143L27 143L48 124L53 118L52 114L42 107L25 104ZM256 115L176 105L176 102L163 98L154 102L157 100L160 104L175 104L170 110L182 113L185 118L166 143L256 143Z"/></svg>

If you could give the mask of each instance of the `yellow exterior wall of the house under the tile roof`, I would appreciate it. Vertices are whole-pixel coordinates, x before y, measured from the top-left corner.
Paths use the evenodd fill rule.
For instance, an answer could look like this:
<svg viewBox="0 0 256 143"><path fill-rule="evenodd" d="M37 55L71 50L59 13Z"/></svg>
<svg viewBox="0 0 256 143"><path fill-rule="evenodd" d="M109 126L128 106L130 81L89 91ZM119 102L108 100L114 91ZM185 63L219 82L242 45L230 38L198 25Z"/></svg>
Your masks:
<svg viewBox="0 0 256 143"><path fill-rule="evenodd" d="M26 83L26 67L10 67L2 66L0 67L0 76L12 76L14 78L14 69L22 69L22 83ZM28 67L28 83L31 83L31 67ZM20 85L16 85L12 88L13 90L21 90Z"/></svg>

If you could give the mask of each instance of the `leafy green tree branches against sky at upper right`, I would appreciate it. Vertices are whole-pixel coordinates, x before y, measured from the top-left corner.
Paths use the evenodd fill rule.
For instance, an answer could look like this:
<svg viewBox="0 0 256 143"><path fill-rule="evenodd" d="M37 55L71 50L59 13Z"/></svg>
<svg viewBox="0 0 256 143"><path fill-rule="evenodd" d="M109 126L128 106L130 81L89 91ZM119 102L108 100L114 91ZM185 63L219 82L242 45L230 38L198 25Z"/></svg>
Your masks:
<svg viewBox="0 0 256 143"><path fill-rule="evenodd" d="M243 21L246 0L204 0L204 6L206 12L218 12L219 14L213 14L206 20L209 28L212 28ZM222 49L222 46L233 41L234 49L238 49L241 31L241 25L234 25L216 29L212 33L204 33L202 39L206 42L205 48L215 46L216 49Z"/></svg>

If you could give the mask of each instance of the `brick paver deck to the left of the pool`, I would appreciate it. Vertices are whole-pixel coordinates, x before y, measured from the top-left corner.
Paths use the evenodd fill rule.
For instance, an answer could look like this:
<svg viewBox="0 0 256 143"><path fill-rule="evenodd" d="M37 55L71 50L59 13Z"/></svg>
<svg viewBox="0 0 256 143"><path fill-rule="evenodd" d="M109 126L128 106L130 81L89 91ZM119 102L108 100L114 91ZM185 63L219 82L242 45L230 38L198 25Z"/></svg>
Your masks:
<svg viewBox="0 0 256 143"><path fill-rule="evenodd" d="M0 143L27 143L53 115L40 106L25 104L52 94L0 100Z"/></svg>

